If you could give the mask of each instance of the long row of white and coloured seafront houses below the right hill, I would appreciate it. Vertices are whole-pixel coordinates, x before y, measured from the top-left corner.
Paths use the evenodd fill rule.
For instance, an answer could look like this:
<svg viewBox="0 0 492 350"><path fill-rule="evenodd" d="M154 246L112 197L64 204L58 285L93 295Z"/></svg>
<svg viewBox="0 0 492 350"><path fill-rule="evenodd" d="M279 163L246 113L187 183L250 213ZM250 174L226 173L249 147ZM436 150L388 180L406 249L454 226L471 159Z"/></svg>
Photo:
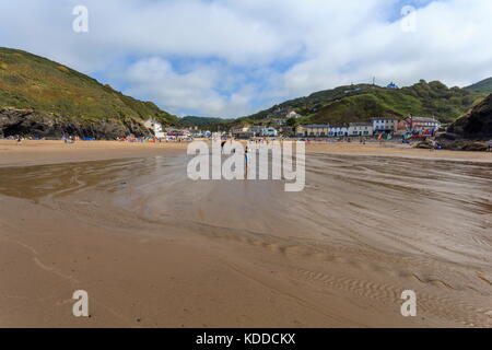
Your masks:
<svg viewBox="0 0 492 350"><path fill-rule="evenodd" d="M373 118L371 121L351 122L348 126L302 125L295 130L297 137L370 137L374 135L423 132L438 130L441 122L435 118L409 116L405 119Z"/></svg>

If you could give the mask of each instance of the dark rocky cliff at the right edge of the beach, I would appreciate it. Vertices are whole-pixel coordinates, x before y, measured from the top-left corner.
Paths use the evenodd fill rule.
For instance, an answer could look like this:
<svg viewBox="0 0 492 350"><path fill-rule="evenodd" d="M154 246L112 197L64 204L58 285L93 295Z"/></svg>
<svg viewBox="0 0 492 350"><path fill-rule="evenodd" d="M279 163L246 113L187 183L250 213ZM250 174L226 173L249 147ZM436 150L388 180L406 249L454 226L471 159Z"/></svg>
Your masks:
<svg viewBox="0 0 492 350"><path fill-rule="evenodd" d="M492 138L492 94L456 120L448 132L468 139Z"/></svg>

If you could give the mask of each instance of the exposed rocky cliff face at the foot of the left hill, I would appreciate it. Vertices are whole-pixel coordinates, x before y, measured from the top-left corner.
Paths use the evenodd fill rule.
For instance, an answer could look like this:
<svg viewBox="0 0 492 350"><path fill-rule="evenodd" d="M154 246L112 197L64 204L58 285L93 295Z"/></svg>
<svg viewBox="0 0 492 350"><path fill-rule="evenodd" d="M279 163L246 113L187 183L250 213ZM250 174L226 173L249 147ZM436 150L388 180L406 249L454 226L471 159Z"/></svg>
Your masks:
<svg viewBox="0 0 492 350"><path fill-rule="evenodd" d="M0 137L61 138L63 135L116 139L129 135L151 136L152 132L132 118L78 121L33 110L0 109Z"/></svg>

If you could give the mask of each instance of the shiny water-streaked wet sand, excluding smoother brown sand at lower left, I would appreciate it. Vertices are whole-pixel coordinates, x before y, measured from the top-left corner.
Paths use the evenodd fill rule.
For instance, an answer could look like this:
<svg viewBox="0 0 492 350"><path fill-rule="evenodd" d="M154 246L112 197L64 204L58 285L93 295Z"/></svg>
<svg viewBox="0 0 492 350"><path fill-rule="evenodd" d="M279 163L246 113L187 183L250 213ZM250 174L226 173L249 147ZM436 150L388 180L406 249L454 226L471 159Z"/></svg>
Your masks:
<svg viewBox="0 0 492 350"><path fill-rule="evenodd" d="M306 189L289 194L272 180L195 183L186 162L4 167L0 194L105 231L198 240L248 283L320 317L273 326L492 326L492 164L311 154ZM185 292L200 288L180 278ZM399 314L409 289L412 320Z"/></svg>

